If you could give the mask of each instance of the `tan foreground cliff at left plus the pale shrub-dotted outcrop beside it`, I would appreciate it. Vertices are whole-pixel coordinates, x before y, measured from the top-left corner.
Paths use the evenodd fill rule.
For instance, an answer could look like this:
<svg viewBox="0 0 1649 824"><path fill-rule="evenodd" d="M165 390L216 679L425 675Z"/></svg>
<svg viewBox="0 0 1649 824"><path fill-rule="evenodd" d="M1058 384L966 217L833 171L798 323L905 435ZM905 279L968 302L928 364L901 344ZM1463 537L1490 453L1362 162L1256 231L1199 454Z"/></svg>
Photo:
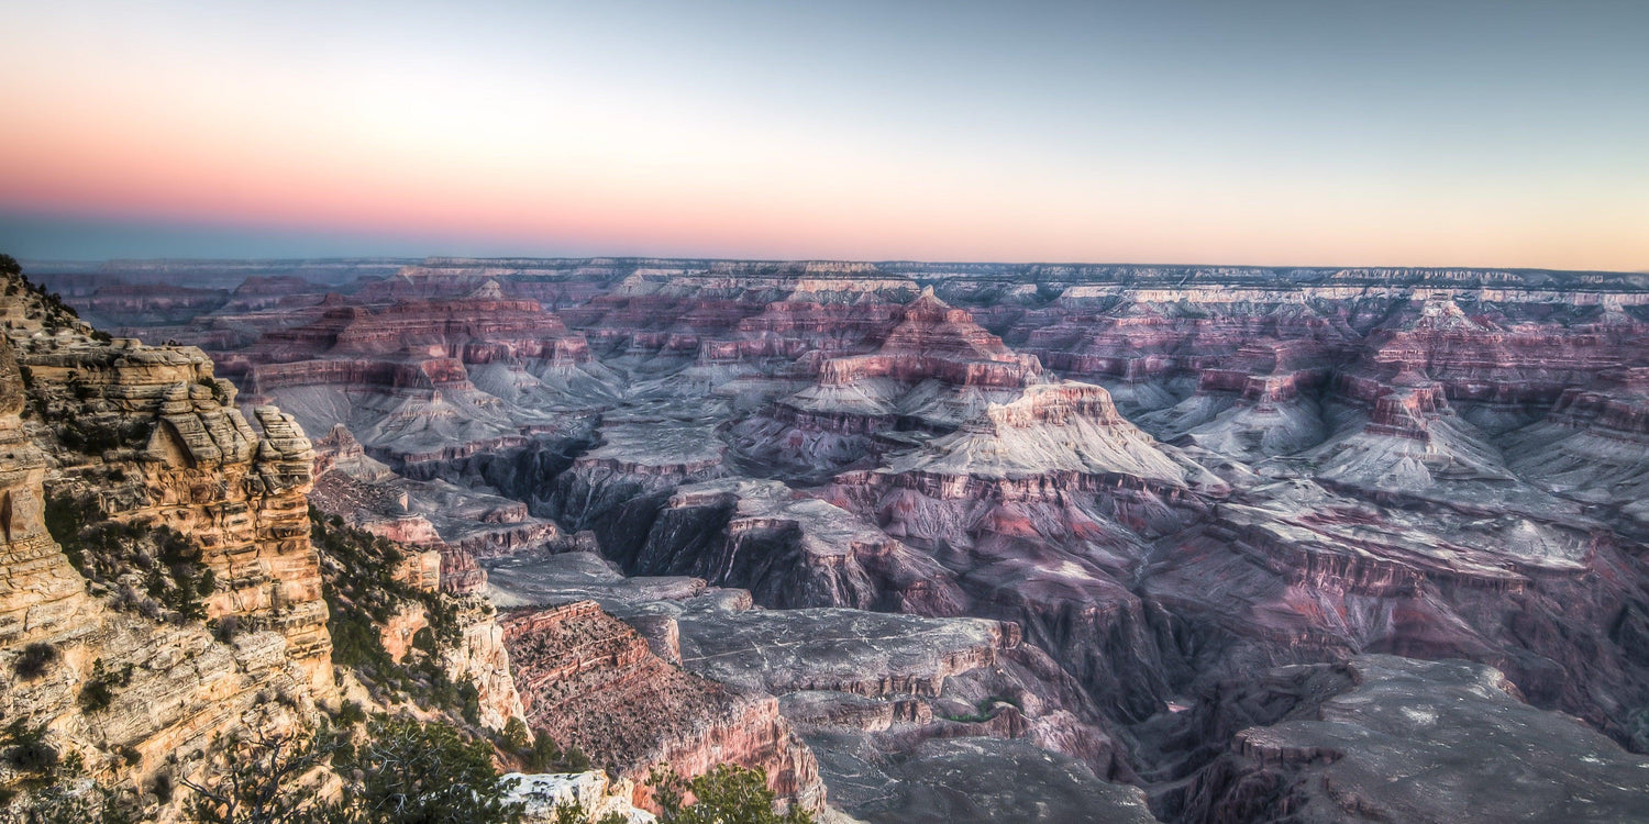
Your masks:
<svg viewBox="0 0 1649 824"><path fill-rule="evenodd" d="M333 666L341 567L312 542L302 427L270 405L242 414L200 349L109 339L15 275L0 287L0 717L73 765L56 781L84 768L140 819L176 821L186 793L173 788L209 773L234 735L312 728L343 699L394 709L396 694ZM437 552L384 545L397 585L442 587ZM450 639L409 649L434 621L422 605L374 628L392 659L439 656L473 687L475 727L498 730L521 702L503 631L473 597L485 574L462 559L453 577L472 595L439 597ZM0 773L7 803L16 786Z"/></svg>

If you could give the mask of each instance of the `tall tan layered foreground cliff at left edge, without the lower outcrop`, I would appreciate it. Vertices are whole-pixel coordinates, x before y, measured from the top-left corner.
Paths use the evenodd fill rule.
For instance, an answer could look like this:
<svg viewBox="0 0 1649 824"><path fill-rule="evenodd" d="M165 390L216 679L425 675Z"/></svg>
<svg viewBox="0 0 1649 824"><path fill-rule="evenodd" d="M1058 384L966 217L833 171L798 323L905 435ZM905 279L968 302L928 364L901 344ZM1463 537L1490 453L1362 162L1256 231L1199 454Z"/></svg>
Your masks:
<svg viewBox="0 0 1649 824"><path fill-rule="evenodd" d="M292 728L335 697L310 445L275 409L257 410L259 437L198 349L46 335L35 300L5 300L23 321L0 341L0 714L170 821L176 806L143 794L157 775L193 773L254 717ZM48 531L48 491L139 532L178 529L216 578L201 608L239 625L233 641L122 608L124 592L94 597Z"/></svg>

